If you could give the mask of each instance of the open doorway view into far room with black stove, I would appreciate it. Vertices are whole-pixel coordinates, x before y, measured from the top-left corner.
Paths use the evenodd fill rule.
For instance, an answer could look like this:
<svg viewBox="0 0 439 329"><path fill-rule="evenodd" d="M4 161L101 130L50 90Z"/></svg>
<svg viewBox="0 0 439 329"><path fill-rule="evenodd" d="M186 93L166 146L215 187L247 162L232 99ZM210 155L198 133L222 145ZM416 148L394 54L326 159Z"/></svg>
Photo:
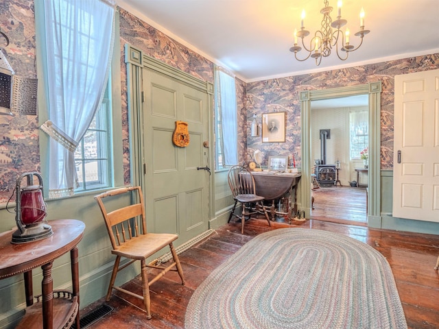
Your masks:
<svg viewBox="0 0 439 329"><path fill-rule="evenodd" d="M368 106L368 95L311 101L312 219L367 225L368 173L357 173L368 150Z"/></svg>

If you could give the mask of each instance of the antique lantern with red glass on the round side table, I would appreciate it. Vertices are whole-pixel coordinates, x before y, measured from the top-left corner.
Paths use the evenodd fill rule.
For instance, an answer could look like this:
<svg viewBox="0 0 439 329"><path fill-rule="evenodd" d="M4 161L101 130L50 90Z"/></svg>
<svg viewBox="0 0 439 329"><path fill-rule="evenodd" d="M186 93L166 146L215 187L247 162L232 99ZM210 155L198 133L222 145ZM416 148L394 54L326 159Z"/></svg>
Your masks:
<svg viewBox="0 0 439 329"><path fill-rule="evenodd" d="M34 185L34 176L38 185ZM26 186L21 186L26 178ZM54 232L47 224L43 199L43 178L39 173L23 173L16 180L15 221L19 228L12 234L12 243L27 243L45 239Z"/></svg>

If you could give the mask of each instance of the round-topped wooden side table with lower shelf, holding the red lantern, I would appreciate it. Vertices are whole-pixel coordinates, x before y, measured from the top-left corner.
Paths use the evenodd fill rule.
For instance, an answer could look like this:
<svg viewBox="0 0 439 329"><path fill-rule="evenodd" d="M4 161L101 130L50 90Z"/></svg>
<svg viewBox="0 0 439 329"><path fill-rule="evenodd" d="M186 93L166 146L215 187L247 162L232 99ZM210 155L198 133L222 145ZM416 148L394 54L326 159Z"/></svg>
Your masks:
<svg viewBox="0 0 439 329"><path fill-rule="evenodd" d="M80 328L79 315L79 270L78 243L84 234L85 225L75 219L49 221L54 235L40 241L12 244L12 232L0 234L0 279L23 273L25 280L26 313L16 328L70 328L73 321ZM70 252L72 292L53 291L51 269L54 260ZM34 304L32 269L43 269L41 298ZM58 296L59 295L59 296Z"/></svg>

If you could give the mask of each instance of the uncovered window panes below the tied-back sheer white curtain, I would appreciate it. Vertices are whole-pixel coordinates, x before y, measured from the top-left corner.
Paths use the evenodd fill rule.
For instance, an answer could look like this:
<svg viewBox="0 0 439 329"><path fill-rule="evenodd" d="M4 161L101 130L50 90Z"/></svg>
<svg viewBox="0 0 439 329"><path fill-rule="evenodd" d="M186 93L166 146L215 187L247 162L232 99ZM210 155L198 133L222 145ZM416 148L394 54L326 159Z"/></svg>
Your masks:
<svg viewBox="0 0 439 329"><path fill-rule="evenodd" d="M78 187L75 192L110 186L110 84L90 127L75 150L75 167Z"/></svg>

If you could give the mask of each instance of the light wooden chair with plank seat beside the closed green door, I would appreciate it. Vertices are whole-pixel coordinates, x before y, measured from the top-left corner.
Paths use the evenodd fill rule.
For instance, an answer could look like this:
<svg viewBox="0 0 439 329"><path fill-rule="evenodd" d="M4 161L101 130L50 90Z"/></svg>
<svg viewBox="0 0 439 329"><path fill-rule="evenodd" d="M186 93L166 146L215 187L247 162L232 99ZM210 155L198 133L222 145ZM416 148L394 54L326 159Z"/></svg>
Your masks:
<svg viewBox="0 0 439 329"><path fill-rule="evenodd" d="M106 197L123 195L123 193L128 193L131 197L131 200L134 201L132 201L128 206L108 212L106 210L106 206L104 205L103 199ZM123 293L128 293L128 295L143 300L143 305L145 306L147 313L147 319L151 319L150 285L164 276L168 271L178 271L182 284L185 284L185 278L183 277L183 270L180 265L180 260L178 260L176 250L172 245L172 242L178 238L178 235L147 233L143 193L139 186L117 188L113 191L101 193L95 196L95 200L97 204L99 204L99 208L101 208L102 215L105 219L106 228L108 230L108 235L110 236L112 245L111 253L116 255L115 265L112 269L106 300L107 302L110 300L112 289L116 289ZM148 265L146 263L146 259L148 257L152 256L167 245L169 245L169 248L171 249L171 254L174 258L173 263L167 267ZM131 260L125 265L119 267L121 257L130 258ZM136 260L140 260L141 262L142 295L138 295L132 291L115 286L117 272L128 267L128 265L131 265ZM152 280L148 281L147 267L161 269L162 271L158 273L158 275L156 275Z"/></svg>

